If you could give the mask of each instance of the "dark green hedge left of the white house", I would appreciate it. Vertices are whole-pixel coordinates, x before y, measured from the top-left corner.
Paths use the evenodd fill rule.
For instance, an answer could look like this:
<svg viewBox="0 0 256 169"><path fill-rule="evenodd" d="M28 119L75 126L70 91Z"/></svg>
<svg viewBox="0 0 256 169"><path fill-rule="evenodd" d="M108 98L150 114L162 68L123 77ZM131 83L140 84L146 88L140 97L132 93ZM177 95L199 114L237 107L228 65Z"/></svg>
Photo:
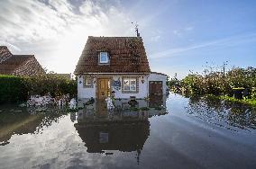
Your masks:
<svg viewBox="0 0 256 169"><path fill-rule="evenodd" d="M77 96L77 81L62 76L0 76L0 102L23 102L30 95L50 93L56 97L69 93Z"/></svg>

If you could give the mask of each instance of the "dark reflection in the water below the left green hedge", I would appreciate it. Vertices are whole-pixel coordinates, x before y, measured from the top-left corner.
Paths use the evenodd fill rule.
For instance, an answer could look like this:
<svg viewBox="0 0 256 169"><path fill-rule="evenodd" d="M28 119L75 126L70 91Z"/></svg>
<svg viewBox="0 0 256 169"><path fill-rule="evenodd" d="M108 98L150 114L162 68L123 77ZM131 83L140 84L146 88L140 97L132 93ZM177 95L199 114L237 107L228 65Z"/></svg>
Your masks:
<svg viewBox="0 0 256 169"><path fill-rule="evenodd" d="M0 112L0 142L2 146L8 144L8 140L14 134L23 135L28 133L40 133L45 127L49 127L53 122L58 122L62 115L60 111L26 111L12 110Z"/></svg>

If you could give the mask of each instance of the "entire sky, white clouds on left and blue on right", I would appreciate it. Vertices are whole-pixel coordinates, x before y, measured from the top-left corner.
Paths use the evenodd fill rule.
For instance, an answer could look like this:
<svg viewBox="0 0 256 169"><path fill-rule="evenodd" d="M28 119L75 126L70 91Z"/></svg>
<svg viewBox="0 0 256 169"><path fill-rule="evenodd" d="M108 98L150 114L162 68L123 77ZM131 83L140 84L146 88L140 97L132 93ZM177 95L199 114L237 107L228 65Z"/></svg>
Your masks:
<svg viewBox="0 0 256 169"><path fill-rule="evenodd" d="M88 36L135 36L134 22L151 71L256 67L254 0L0 0L0 45L73 73Z"/></svg>

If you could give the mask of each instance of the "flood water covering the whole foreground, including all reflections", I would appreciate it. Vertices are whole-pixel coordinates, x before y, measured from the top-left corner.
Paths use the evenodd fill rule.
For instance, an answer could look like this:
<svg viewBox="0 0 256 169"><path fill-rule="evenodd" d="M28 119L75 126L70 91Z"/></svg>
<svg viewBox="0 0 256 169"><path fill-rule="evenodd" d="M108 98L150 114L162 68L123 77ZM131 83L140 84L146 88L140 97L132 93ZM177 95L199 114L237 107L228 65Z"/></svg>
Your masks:
<svg viewBox="0 0 256 169"><path fill-rule="evenodd" d="M255 109L172 93L138 102L0 105L0 168L256 168Z"/></svg>

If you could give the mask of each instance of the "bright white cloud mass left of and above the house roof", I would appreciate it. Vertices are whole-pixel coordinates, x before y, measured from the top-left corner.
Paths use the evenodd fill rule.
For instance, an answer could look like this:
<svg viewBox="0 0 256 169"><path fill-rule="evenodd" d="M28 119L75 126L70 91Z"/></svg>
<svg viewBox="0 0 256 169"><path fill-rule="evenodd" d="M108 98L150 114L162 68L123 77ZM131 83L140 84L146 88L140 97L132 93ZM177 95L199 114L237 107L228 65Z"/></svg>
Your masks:
<svg viewBox="0 0 256 169"><path fill-rule="evenodd" d="M83 1L75 6L69 2L0 1L0 45L13 46L19 54L35 54L50 70L73 72L87 36L133 33L118 3Z"/></svg>

